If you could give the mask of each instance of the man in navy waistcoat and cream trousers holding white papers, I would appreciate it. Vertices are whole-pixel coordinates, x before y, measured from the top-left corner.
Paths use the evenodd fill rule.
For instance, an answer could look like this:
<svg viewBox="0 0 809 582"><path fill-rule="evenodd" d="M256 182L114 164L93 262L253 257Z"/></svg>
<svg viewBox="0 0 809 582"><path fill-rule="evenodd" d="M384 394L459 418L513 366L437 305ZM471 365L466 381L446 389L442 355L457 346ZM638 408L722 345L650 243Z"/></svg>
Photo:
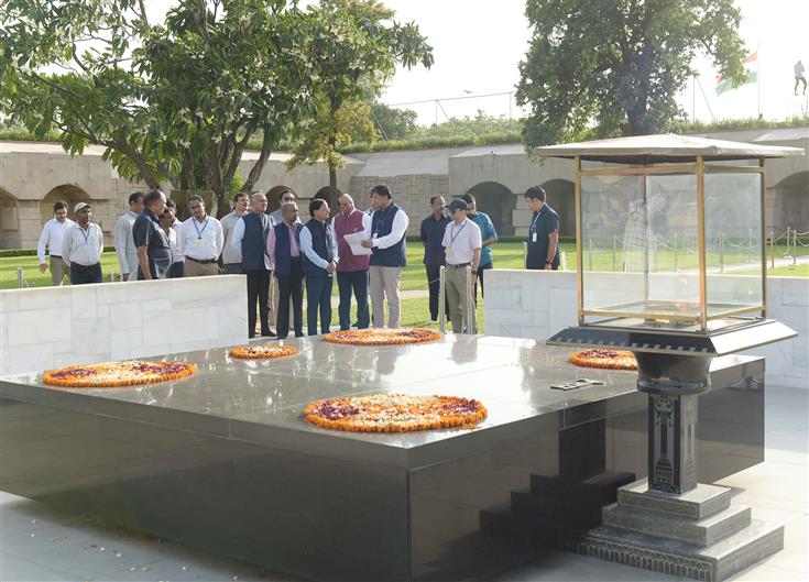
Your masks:
<svg viewBox="0 0 809 582"><path fill-rule="evenodd" d="M364 229L362 245L372 249L369 267L373 327L385 327L385 298L387 299L387 327L397 328L400 318L398 284L402 267L407 264L405 233L409 219L405 211L393 202L387 186L380 184L371 190L375 207L371 223Z"/></svg>

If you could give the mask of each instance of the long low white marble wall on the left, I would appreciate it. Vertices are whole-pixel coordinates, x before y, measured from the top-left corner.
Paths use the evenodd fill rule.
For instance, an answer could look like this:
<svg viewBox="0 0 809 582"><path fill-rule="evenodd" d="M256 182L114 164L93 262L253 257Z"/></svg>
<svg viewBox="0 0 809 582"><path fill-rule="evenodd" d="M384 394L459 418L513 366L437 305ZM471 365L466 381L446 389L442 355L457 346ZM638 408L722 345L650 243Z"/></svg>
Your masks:
<svg viewBox="0 0 809 582"><path fill-rule="evenodd" d="M241 275L0 292L0 374L247 341Z"/></svg>

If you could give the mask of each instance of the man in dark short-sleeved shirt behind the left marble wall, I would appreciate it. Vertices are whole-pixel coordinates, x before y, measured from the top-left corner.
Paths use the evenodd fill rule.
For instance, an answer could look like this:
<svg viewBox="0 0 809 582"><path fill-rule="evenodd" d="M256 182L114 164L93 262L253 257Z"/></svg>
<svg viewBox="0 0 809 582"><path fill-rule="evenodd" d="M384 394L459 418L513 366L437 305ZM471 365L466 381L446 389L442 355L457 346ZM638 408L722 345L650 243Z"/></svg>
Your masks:
<svg viewBox="0 0 809 582"><path fill-rule="evenodd" d="M166 208L166 195L157 189L149 190L144 202L143 212L132 224L132 238L138 249L138 279L170 278L172 248L157 218Z"/></svg>

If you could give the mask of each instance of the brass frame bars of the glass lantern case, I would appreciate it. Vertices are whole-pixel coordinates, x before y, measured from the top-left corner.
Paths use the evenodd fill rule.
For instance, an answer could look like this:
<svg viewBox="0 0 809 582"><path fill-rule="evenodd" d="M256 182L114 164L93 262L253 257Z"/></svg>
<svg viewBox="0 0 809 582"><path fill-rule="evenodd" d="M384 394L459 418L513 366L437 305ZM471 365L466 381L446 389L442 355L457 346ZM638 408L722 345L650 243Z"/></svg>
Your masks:
<svg viewBox="0 0 809 582"><path fill-rule="evenodd" d="M598 325L598 322L586 323L586 316L606 317L606 318L632 318L637 319L639 317L644 319L655 319L662 321L664 325L669 321L690 321L698 323L700 330L708 331L709 321L717 319L726 319L740 315L758 312L763 319L766 317L766 304L767 304L767 272L766 272L766 234L764 227L764 160L757 158L758 164L756 166L730 166L730 165L706 165L703 156L696 156L693 163L677 163L667 165L648 165L648 166L632 166L632 167L599 167L599 168L582 168L581 156L573 157L573 173L575 173L575 196L576 196L576 256L579 268L577 278L577 296L578 296L578 319L579 326L584 325ZM762 240L762 256L761 256L761 268L762 268L762 303L759 305L741 307L737 309L729 309L719 314L708 314L708 272L707 272L707 260L706 260L706 200L704 200L704 176L706 174L743 174L753 173L761 175L761 191L759 191L759 204L761 204L761 240ZM609 306L604 309L584 309L583 308L583 285L584 285L584 268L583 268L583 256L582 256L582 200L581 200L581 178L582 176L617 176L617 175L641 175L641 176L654 176L665 174L691 174L697 177L697 230L698 230L698 250L697 255L699 259L699 315L698 316L685 316L679 314L670 312L653 312L653 311L628 311L621 309L622 307L647 305L648 303L648 288L644 289L644 301L632 301L628 304L619 304ZM644 278L648 278L648 266L644 271ZM645 284L647 287L647 284Z"/></svg>

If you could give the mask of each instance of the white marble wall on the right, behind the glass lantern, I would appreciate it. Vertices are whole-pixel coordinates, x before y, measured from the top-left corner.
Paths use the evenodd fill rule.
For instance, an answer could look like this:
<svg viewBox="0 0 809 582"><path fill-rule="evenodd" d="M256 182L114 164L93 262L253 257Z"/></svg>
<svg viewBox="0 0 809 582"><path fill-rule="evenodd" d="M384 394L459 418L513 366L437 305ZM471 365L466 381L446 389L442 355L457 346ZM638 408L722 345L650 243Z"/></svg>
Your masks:
<svg viewBox="0 0 809 582"><path fill-rule="evenodd" d="M729 285L742 278L723 277ZM768 277L767 284L767 317L798 337L743 353L766 358L767 382L809 388L809 278ZM493 270L487 272L485 285L487 334L547 339L576 325L575 272Z"/></svg>

